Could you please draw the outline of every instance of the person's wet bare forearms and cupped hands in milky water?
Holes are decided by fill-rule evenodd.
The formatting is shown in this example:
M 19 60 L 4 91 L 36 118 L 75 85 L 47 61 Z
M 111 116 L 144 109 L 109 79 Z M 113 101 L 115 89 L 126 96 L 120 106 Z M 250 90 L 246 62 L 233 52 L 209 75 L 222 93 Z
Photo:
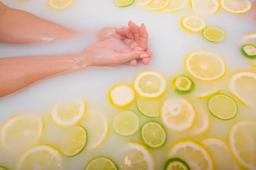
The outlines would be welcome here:
M 11 9 L 0 2 L 0 43 L 50 43 L 79 35 L 28 12 Z M 13 94 L 43 79 L 87 67 L 116 67 L 123 63 L 150 62 L 148 32 L 144 24 L 105 27 L 97 34 L 99 43 L 82 52 L 54 56 L 0 58 L 0 98 Z

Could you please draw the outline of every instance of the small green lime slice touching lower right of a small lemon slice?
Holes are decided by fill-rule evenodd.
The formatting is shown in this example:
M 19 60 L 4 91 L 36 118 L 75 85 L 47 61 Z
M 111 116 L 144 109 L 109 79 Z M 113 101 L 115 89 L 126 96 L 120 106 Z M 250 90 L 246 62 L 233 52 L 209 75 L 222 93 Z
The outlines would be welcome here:
M 224 40 L 226 33 L 218 27 L 207 27 L 203 31 L 203 36 L 209 41 L 218 43 Z

